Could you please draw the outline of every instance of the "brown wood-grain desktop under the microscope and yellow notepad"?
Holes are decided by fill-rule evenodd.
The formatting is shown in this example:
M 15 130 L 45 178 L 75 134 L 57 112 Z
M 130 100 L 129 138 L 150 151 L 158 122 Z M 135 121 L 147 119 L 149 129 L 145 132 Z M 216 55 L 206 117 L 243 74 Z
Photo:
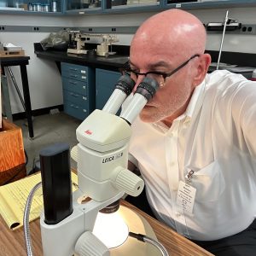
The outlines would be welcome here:
M 140 213 L 143 218 L 148 220 L 148 223 L 154 230 L 158 240 L 166 247 L 170 256 L 207 256 L 212 255 L 203 248 L 197 246 L 192 241 L 178 235 L 175 231 L 161 224 L 159 221 L 151 218 L 145 212 L 140 211 L 136 207 L 131 206 L 130 203 L 122 201 L 122 205 L 130 207 L 133 211 Z M 42 256 L 42 244 L 39 219 L 30 224 L 31 238 L 32 238 L 32 252 L 35 256 Z M 0 216 L 0 255 L 1 256 L 26 256 L 25 240 L 23 236 L 23 229 L 11 231 L 4 223 Z M 56 255 L 57 256 L 57 255 Z M 59 256 L 59 255 L 58 255 Z M 61 256 L 61 255 L 60 255 Z

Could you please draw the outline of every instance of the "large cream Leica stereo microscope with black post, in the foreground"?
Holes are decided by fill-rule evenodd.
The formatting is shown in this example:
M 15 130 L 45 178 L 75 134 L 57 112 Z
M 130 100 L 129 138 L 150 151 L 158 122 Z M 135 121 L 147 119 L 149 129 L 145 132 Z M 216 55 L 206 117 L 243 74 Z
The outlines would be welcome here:
M 46 178 L 44 166 L 49 164 L 44 164 L 44 157 L 47 163 L 50 150 L 40 155 L 44 195 L 40 225 L 44 256 L 110 255 L 108 247 L 93 234 L 96 217 L 102 209 L 107 209 L 105 212 L 118 209 L 119 199 L 125 193 L 137 196 L 143 190 L 143 180 L 127 169 L 131 123 L 159 88 L 154 79 L 143 79 L 127 108 L 120 116 L 115 115 L 134 85 L 130 76 L 121 76 L 104 108 L 90 113 L 79 125 L 76 131 L 79 144 L 71 151 L 78 164 L 79 189 L 73 195 L 70 188 L 67 193 L 60 192 L 65 189 L 62 185 L 58 188 L 65 173 L 55 178 L 50 173 L 50 178 Z M 70 173 L 68 183 L 71 183 Z M 54 203 L 52 198 L 55 198 Z M 56 207 L 58 201 L 61 201 L 60 207 Z

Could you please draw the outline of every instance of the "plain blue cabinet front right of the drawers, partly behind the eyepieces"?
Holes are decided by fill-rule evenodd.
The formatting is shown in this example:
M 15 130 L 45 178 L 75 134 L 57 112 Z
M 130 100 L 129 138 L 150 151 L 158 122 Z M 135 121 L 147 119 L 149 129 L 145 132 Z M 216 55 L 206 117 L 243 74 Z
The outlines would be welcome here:
M 121 74 L 106 69 L 96 68 L 96 108 L 102 109 Z

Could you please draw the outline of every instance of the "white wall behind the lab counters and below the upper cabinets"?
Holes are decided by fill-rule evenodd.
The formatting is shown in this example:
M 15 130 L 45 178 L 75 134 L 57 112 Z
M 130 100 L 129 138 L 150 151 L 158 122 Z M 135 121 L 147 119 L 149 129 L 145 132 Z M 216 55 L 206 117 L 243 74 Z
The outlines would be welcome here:
M 226 9 L 191 10 L 202 22 L 223 21 Z M 256 8 L 230 9 L 230 17 L 242 24 L 256 24 Z M 26 15 L 0 15 L 0 25 L 29 25 L 29 26 L 139 26 L 154 13 L 141 13 L 129 15 L 88 15 L 88 16 L 26 16 Z M 44 61 L 33 53 L 33 43 L 45 38 L 48 33 L 28 32 L 0 32 L 0 42 L 18 44 L 31 56 L 27 67 L 28 80 L 31 90 L 32 109 L 47 108 L 62 103 L 61 76 L 55 67 L 54 61 Z M 207 38 L 207 49 L 218 50 L 221 33 L 210 34 Z M 131 34 L 119 35 L 119 43 L 130 45 Z M 256 36 L 254 35 L 226 35 L 224 38 L 224 51 L 243 53 L 256 53 Z M 20 85 L 19 69 L 13 67 L 15 77 Z M 20 85 L 21 87 L 21 85 Z M 13 89 L 12 89 L 13 90 Z M 22 110 L 17 97 L 12 93 L 12 111 L 19 113 Z

